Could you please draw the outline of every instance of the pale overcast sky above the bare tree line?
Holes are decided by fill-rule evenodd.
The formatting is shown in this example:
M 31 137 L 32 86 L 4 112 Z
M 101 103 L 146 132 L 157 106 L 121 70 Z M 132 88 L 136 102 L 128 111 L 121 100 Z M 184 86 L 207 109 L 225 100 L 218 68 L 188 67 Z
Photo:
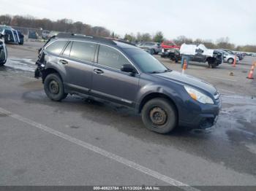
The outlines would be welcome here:
M 256 44 L 255 0 L 0 0 L 2 14 L 69 18 L 126 33 L 162 31 L 167 39 L 228 36 L 235 44 Z M 4 9 L 3 9 L 4 7 Z

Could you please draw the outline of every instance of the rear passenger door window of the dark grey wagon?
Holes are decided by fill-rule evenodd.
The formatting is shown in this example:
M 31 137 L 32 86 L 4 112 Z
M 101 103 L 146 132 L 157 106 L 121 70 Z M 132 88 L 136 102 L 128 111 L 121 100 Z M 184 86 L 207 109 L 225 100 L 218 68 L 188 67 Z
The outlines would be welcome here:
M 96 46 L 96 44 L 90 42 L 73 42 L 70 57 L 92 62 L 94 61 Z

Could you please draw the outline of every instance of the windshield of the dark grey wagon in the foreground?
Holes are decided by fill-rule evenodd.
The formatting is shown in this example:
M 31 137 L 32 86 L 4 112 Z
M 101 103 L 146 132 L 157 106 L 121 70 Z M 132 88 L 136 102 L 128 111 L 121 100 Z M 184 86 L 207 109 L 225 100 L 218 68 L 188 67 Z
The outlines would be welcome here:
M 146 73 L 161 73 L 169 71 L 162 63 L 157 61 L 154 56 L 140 49 L 125 49 L 128 55 L 137 63 L 140 69 Z

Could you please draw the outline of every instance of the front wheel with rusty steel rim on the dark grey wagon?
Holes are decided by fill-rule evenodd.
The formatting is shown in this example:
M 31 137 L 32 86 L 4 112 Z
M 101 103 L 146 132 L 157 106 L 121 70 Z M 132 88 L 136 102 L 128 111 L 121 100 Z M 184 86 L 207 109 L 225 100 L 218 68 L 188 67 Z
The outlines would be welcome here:
M 146 128 L 157 133 L 170 133 L 177 125 L 175 106 L 166 98 L 154 98 L 142 109 L 142 120 Z

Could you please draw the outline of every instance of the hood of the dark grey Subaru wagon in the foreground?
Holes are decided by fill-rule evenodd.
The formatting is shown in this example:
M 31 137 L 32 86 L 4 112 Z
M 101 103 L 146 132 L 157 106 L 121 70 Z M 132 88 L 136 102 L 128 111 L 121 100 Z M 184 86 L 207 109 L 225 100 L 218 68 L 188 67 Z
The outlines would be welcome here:
M 187 74 L 181 74 L 178 71 L 159 73 L 157 74 L 157 77 L 161 77 L 162 79 L 166 80 L 180 82 L 184 85 L 195 87 L 199 90 L 205 90 L 206 92 L 211 93 L 211 95 L 214 95 L 214 93 L 217 92 L 217 89 L 208 82 L 205 82 L 202 79 L 198 79 L 196 77 L 189 76 Z

